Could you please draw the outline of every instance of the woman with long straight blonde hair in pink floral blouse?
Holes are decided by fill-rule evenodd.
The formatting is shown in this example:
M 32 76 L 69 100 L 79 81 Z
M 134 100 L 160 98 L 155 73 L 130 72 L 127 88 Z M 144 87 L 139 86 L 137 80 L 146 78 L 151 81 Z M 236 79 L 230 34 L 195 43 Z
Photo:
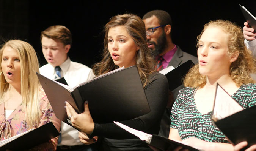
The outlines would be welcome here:
M 55 117 L 36 76 L 39 64 L 33 47 L 24 41 L 10 40 L 0 49 L 0 59 L 1 140 L 49 122 L 60 130 L 60 120 Z M 56 150 L 57 142 L 56 137 L 34 149 Z

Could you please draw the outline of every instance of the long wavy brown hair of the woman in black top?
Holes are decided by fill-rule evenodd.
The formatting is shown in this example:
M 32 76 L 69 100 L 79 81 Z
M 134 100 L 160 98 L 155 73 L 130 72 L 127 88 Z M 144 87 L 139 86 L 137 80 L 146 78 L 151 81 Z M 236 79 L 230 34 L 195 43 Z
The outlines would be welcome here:
M 134 14 L 116 15 L 110 18 L 110 21 L 105 25 L 104 49 L 102 52 L 103 59 L 101 62 L 94 64 L 93 72 L 96 76 L 99 76 L 119 68 L 119 66 L 115 65 L 113 62 L 108 51 L 108 31 L 110 28 L 116 26 L 124 26 L 135 44 L 140 47 L 137 52 L 136 66 L 140 74 L 140 79 L 143 82 L 143 86 L 146 86 L 146 83 L 149 82 L 149 74 L 155 72 L 154 59 L 146 42 L 144 22 L 140 17 Z

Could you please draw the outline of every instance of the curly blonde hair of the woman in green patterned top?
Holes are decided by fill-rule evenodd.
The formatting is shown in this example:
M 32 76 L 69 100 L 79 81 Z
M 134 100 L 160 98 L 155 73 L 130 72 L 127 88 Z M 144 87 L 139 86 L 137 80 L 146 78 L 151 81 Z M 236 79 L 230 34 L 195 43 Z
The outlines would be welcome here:
M 235 51 L 239 51 L 239 56 L 236 61 L 231 63 L 229 73 L 232 80 L 237 86 L 247 83 L 255 83 L 250 77 L 251 73 L 256 72 L 256 60 L 251 55 L 251 51 L 248 50 L 244 44 L 244 37 L 242 28 L 227 20 L 215 20 L 210 21 L 204 25 L 204 29 L 200 35 L 197 36 L 199 40 L 203 32 L 208 27 L 221 28 L 228 34 L 228 55 L 232 55 Z M 206 84 L 206 76 L 199 73 L 198 64 L 188 71 L 188 74 L 184 78 L 184 86 L 190 87 L 203 87 Z

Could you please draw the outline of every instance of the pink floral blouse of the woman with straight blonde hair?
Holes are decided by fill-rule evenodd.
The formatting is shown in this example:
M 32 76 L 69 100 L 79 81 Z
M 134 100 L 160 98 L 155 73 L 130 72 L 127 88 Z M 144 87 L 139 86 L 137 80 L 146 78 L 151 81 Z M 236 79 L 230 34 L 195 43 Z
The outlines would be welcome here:
M 41 120 L 37 126 L 28 126 L 28 123 L 25 119 L 25 112 L 22 111 L 23 105 L 20 104 L 8 117 L 5 119 L 4 108 L 5 105 L 2 103 L 0 105 L 0 138 L 1 140 L 8 139 L 17 134 L 28 131 L 32 128 L 38 128 L 46 123 L 52 122 L 53 125 L 60 131 L 60 120 L 55 116 L 52 106 L 50 105 L 46 95 L 42 92 L 42 99 L 40 100 L 41 107 Z M 49 142 L 43 143 L 36 146 L 31 150 L 40 150 L 40 151 L 55 151 L 58 143 L 58 137 L 51 139 Z

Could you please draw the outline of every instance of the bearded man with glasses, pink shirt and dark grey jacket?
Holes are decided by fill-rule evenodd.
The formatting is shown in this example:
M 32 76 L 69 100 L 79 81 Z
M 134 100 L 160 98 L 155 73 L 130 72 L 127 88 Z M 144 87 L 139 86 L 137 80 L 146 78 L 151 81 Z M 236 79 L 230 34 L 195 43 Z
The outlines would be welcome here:
M 168 12 L 162 10 L 150 11 L 142 19 L 146 26 L 147 44 L 157 61 L 158 71 L 168 66 L 175 68 L 187 60 L 192 60 L 195 64 L 198 63 L 197 57 L 182 51 L 179 46 L 173 43 L 171 39 L 172 21 Z M 183 85 L 169 92 L 169 102 L 161 121 L 160 136 L 169 136 L 170 109 L 182 88 L 184 88 Z

